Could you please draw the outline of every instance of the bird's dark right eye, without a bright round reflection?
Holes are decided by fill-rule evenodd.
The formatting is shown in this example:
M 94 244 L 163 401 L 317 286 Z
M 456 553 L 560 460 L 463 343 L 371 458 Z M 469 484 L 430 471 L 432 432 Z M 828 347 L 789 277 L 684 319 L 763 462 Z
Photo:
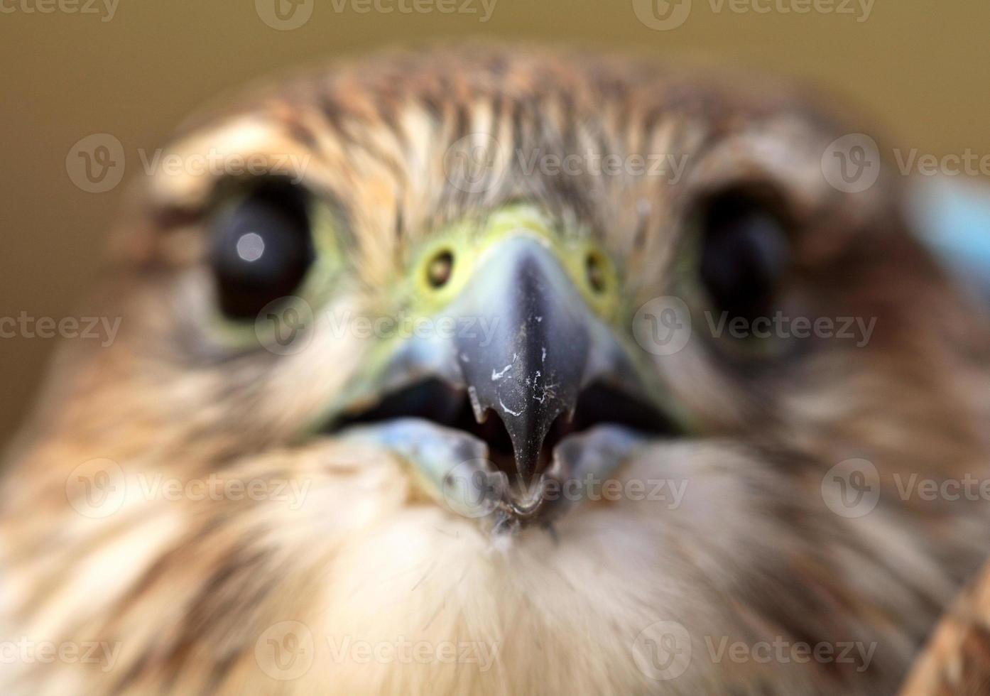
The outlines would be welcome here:
M 701 280 L 713 308 L 755 319 L 771 311 L 790 245 L 779 206 L 745 191 L 717 194 L 698 213 Z

